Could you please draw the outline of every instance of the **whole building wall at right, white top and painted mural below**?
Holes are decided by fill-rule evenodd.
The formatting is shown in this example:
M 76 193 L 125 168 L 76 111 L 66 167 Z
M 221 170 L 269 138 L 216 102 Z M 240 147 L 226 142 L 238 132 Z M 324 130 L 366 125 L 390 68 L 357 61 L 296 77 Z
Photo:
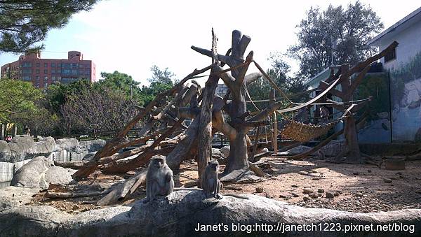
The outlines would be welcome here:
M 390 73 L 392 139 L 421 142 L 421 20 L 380 38 L 379 49 L 393 41 L 399 43 L 396 59 L 384 64 Z

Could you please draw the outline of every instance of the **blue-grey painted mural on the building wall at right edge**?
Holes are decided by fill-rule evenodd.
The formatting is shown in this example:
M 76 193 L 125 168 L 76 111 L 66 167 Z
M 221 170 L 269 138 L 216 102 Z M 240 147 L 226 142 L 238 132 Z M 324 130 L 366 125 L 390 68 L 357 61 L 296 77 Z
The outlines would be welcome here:
M 393 141 L 421 142 L 421 52 L 390 71 Z

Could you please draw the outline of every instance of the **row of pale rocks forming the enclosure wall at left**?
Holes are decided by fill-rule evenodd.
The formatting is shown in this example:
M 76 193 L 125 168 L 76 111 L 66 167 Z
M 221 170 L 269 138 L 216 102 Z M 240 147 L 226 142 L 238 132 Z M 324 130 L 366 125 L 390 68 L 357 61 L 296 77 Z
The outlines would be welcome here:
M 0 141 L 0 187 L 8 185 L 13 173 L 34 157 L 44 156 L 50 161 L 80 161 L 91 159 L 105 141 L 77 141 L 74 138 L 40 138 L 38 142 L 30 136 L 16 136 L 10 143 Z

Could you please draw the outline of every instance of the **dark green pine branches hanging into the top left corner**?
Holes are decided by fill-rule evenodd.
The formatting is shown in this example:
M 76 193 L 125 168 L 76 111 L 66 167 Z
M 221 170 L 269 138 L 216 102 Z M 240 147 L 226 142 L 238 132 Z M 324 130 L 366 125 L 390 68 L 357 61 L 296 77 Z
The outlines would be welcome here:
M 98 0 L 0 0 L 0 51 L 25 52 Z M 43 45 L 35 47 L 40 50 Z

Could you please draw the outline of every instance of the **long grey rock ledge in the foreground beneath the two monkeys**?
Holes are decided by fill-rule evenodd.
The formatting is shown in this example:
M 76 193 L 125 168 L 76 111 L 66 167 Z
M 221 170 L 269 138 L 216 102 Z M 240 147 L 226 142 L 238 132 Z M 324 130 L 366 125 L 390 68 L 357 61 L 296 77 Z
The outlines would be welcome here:
M 405 231 L 282 231 L 281 227 L 313 225 L 345 228 L 352 224 L 403 224 L 421 233 L 421 210 L 350 213 L 303 208 L 262 196 L 247 200 L 224 196 L 205 199 L 199 191 L 173 192 L 166 199 L 133 207 L 120 206 L 68 215 L 50 206 L 20 206 L 0 213 L 1 236 L 408 236 Z M 195 231 L 199 225 L 221 224 L 226 231 Z M 247 227 L 239 231 L 236 227 Z M 260 231 L 255 229 L 259 225 Z M 263 226 L 265 225 L 265 227 Z M 249 228 L 251 231 L 246 232 Z M 269 229 L 267 229 L 269 228 Z M 287 228 L 287 227 L 286 227 Z M 272 231 L 271 231 L 272 230 Z

